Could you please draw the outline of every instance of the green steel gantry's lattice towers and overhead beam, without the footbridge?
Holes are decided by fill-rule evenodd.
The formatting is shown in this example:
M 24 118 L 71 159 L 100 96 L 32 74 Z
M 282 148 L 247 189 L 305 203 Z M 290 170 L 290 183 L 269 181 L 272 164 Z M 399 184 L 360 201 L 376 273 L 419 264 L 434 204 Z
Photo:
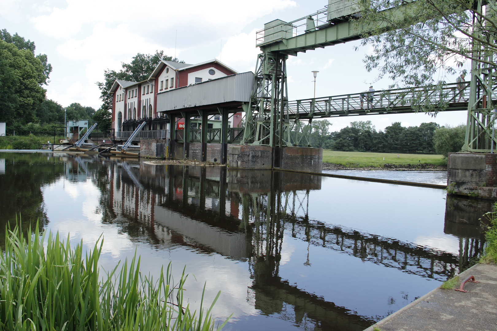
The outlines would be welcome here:
M 284 147 L 298 145 L 291 133 L 291 119 L 297 125 L 299 119 L 299 102 L 297 112 L 289 108 L 286 60 L 289 55 L 296 56 L 298 52 L 306 52 L 316 48 L 341 44 L 362 38 L 363 32 L 370 26 L 359 26 L 355 21 L 357 11 L 355 0 L 328 0 L 328 6 L 311 15 L 284 22 L 276 19 L 264 24 L 264 29 L 257 32 L 256 47 L 262 51 L 259 54 L 255 69 L 255 80 L 251 91 L 251 100 L 246 111 L 246 126 L 242 144 L 266 145 Z M 416 1 L 406 1 L 403 5 L 387 9 L 392 15 L 400 16 L 406 10 L 412 10 Z M 475 0 L 478 12 L 482 6 L 487 10 L 496 10 L 495 0 Z M 474 24 L 480 20 L 475 19 Z M 384 27 L 388 29 L 388 26 Z M 493 53 L 486 50 L 485 45 L 473 40 L 474 54 L 479 58 L 493 61 Z M 497 99 L 496 87 L 493 84 L 497 68 L 484 62 L 472 61 L 469 101 L 467 103 L 468 120 L 465 144 L 463 150 L 488 152 L 494 148 L 493 100 Z M 454 90 L 454 88 L 452 88 Z M 433 92 L 428 93 L 433 95 Z M 436 91 L 440 96 L 443 91 Z M 448 93 L 447 93 L 448 94 Z M 422 102 L 435 102 L 425 98 Z M 321 98 L 323 99 L 323 98 Z M 442 99 L 442 97 L 440 97 Z M 309 108 L 314 109 L 319 101 L 310 99 Z M 329 103 L 324 102 L 323 107 Z M 412 107 L 415 107 L 412 104 Z M 443 110 L 443 109 L 440 109 Z M 326 113 L 326 112 L 325 112 Z M 310 115 L 309 115 L 310 114 Z M 330 112 L 313 116 L 307 113 L 309 125 L 312 118 L 327 117 Z

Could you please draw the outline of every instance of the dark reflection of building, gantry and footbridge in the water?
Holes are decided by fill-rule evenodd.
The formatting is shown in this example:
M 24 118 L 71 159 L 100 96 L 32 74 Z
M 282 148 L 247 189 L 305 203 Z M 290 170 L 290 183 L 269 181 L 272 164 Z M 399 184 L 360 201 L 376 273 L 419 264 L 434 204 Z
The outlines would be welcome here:
M 358 316 L 282 279 L 285 231 L 308 245 L 438 280 L 468 265 L 482 245 L 477 232 L 456 232 L 463 243 L 457 256 L 310 219 L 309 193 L 321 189 L 321 176 L 119 162 L 110 178 L 114 221 L 126 223 L 131 235 L 248 261 L 248 301 L 302 328 L 364 330 L 374 317 Z M 452 233 L 447 222 L 446 233 Z

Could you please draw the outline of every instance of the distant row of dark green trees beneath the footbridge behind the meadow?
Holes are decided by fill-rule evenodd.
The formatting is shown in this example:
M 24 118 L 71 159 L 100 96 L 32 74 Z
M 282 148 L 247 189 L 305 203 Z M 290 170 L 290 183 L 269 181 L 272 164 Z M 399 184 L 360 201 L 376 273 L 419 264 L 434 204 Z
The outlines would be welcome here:
M 458 152 L 464 144 L 466 126 L 440 126 L 421 123 L 418 127 L 403 127 L 394 122 L 384 131 L 377 131 L 371 121 L 354 121 L 340 131 L 330 132 L 328 120 L 311 124 L 311 145 L 339 151 L 378 153 L 437 153 L 447 156 Z M 308 134 L 309 127 L 302 127 L 300 134 Z M 292 133 L 295 136 L 295 133 Z

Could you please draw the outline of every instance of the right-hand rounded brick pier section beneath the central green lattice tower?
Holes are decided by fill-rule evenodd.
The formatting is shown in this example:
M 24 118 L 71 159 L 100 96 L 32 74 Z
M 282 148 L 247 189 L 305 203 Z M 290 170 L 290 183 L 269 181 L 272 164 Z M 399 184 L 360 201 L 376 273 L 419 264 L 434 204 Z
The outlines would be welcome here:
M 287 170 L 321 172 L 323 148 L 283 147 L 281 148 L 281 168 Z

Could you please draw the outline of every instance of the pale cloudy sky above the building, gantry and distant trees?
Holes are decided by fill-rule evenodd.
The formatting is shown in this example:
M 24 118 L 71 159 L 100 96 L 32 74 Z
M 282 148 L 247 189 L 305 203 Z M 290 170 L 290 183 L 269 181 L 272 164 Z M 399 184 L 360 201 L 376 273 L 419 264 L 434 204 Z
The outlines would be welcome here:
M 97 81 L 106 68 L 118 70 L 137 53 L 166 54 L 196 64 L 219 59 L 240 72 L 254 71 L 259 50 L 255 31 L 279 18 L 291 21 L 312 14 L 326 0 L 0 0 L 0 28 L 34 41 L 36 54 L 48 55 L 53 66 L 47 97 L 63 106 L 79 102 L 98 109 Z M 289 99 L 313 96 L 312 70 L 319 70 L 316 96 L 358 93 L 373 83 L 376 90 L 388 88 L 387 79 L 376 81 L 362 59 L 368 47 L 350 42 L 299 53 L 288 64 Z M 469 69 L 469 68 L 467 68 Z M 455 81 L 456 77 L 448 77 Z M 418 126 L 466 123 L 466 112 L 375 115 L 331 118 L 331 131 L 350 121 L 370 120 L 383 130 L 392 122 Z

